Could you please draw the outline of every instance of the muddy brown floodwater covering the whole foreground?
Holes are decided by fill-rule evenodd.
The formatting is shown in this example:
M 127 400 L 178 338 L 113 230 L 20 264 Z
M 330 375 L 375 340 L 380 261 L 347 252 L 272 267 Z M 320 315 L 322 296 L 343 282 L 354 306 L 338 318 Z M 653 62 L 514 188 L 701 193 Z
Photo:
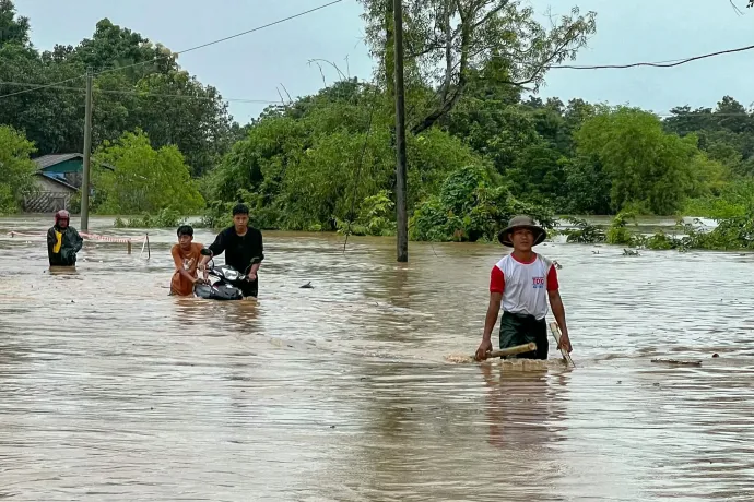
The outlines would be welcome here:
M 446 361 L 498 246 L 401 265 L 392 239 L 266 232 L 259 300 L 210 302 L 168 297 L 174 230 L 50 274 L 7 236 L 48 226 L 0 219 L 0 499 L 754 499 L 753 255 L 545 243 L 576 368 L 551 340 L 515 371 Z

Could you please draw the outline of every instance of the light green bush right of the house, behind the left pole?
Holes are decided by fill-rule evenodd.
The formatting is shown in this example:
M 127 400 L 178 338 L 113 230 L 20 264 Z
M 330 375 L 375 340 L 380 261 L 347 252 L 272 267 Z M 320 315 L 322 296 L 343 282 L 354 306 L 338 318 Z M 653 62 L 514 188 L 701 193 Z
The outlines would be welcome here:
M 204 207 L 178 148 L 154 150 L 142 131 L 105 142 L 94 157 L 93 205 L 101 214 L 151 214 L 168 207 L 192 214 Z

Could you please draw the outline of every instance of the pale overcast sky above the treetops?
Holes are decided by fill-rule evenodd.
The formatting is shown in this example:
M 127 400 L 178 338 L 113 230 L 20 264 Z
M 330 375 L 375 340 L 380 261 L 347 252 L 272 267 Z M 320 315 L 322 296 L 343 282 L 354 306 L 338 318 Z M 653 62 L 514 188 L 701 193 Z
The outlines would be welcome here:
M 531 0 L 537 12 L 578 5 L 593 10 L 597 34 L 576 64 L 665 61 L 754 45 L 754 9 L 745 0 Z M 174 51 L 244 32 L 326 3 L 326 0 L 15 0 L 31 17 L 32 40 L 39 49 L 76 45 L 91 37 L 103 17 L 129 27 Z M 223 44 L 186 53 L 181 67 L 228 99 L 279 99 L 280 84 L 292 96 L 322 86 L 310 59 L 335 61 L 352 75 L 369 77 L 373 62 L 363 44 L 361 4 L 345 0 Z M 672 69 L 551 70 L 542 97 L 564 101 L 631 104 L 665 113 L 674 106 L 709 106 L 731 95 L 754 101 L 754 50 L 695 61 Z M 327 74 L 329 82 L 337 75 Z M 264 105 L 232 101 L 236 120 L 247 122 Z

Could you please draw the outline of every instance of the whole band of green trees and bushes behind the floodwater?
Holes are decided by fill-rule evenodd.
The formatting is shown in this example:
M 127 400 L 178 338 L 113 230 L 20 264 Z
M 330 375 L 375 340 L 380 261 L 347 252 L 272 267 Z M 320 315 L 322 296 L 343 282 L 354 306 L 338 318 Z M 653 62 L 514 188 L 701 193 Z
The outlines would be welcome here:
M 342 75 L 239 124 L 161 44 L 105 19 L 75 46 L 39 51 L 32 22 L 0 0 L 4 207 L 17 210 L 33 188 L 32 155 L 82 150 L 91 69 L 95 156 L 117 167 L 93 176 L 95 211 L 169 208 L 170 220 L 199 212 L 224 225 L 245 201 L 263 228 L 394 231 L 392 2 L 362 3 L 373 81 Z M 576 8 L 545 27 L 522 0 L 405 0 L 414 239 L 493 239 L 518 211 L 542 222 L 752 211 L 741 187 L 754 186 L 754 113 L 733 97 L 667 118 L 538 97 L 550 69 L 596 29 L 594 13 Z

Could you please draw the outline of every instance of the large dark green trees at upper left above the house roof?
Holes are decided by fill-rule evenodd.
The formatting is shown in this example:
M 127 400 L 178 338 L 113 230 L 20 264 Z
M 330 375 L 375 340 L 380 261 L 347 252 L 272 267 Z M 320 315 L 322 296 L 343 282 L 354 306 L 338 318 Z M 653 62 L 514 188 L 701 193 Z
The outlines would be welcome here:
M 234 125 L 227 104 L 214 87 L 181 71 L 166 47 L 105 19 L 75 47 L 56 45 L 40 52 L 30 43 L 28 19 L 16 16 L 11 0 L 0 0 L 0 94 L 61 81 L 81 88 L 39 88 L 3 98 L 0 123 L 23 131 L 39 155 L 82 152 L 86 68 L 107 71 L 94 79 L 95 147 L 140 128 L 155 148 L 178 145 L 195 176 L 214 167 L 229 148 Z

